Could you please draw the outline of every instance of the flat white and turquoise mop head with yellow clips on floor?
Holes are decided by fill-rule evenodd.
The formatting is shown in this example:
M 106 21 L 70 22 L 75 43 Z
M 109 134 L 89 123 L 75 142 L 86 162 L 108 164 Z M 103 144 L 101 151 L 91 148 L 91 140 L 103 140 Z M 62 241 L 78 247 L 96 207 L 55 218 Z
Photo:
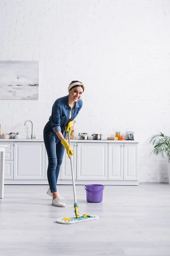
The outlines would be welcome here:
M 80 218 L 60 218 L 57 219 L 57 223 L 61 223 L 61 224 L 74 224 L 74 223 L 78 223 L 78 222 L 83 222 L 83 221 L 93 221 L 98 219 L 99 216 L 97 215 L 85 215 L 83 214 L 82 216 L 80 216 Z

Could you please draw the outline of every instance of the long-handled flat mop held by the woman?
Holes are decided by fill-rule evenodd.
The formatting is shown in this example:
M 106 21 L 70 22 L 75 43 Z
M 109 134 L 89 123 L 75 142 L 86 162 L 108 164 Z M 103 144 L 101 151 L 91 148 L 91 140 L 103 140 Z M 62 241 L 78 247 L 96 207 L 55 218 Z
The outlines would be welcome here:
M 70 143 L 70 131 L 68 131 L 68 143 L 71 146 Z M 74 192 L 74 212 L 76 217 L 71 217 L 71 218 L 59 218 L 57 219 L 57 223 L 61 224 L 74 224 L 78 222 L 83 222 L 83 221 L 93 221 L 99 218 L 97 215 L 86 215 L 83 214 L 82 216 L 79 215 L 79 209 L 78 209 L 78 204 L 77 204 L 77 197 L 76 197 L 76 187 L 75 187 L 75 181 L 74 181 L 74 169 L 73 169 L 73 161 L 72 161 L 72 156 L 70 155 L 70 162 L 71 162 L 71 174 L 72 174 L 72 181 L 73 181 L 73 192 Z

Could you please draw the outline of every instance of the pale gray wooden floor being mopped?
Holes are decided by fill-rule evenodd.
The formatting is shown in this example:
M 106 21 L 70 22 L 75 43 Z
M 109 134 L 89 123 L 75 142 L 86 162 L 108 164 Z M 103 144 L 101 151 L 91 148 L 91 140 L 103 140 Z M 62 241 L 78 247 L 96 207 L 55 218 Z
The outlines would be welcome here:
M 55 223 L 74 216 L 72 186 L 58 186 L 65 208 L 51 205 L 48 186 L 6 185 L 0 200 L 0 255 L 170 256 L 170 185 L 105 186 L 102 203 L 86 202 L 76 186 L 80 214 L 99 219 Z

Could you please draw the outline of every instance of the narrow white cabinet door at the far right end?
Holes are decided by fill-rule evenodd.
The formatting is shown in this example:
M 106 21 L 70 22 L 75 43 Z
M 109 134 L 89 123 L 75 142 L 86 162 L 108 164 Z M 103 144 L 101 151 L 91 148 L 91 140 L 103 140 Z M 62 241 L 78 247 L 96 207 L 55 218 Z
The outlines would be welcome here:
M 138 180 L 138 145 L 137 143 L 124 144 L 124 180 Z

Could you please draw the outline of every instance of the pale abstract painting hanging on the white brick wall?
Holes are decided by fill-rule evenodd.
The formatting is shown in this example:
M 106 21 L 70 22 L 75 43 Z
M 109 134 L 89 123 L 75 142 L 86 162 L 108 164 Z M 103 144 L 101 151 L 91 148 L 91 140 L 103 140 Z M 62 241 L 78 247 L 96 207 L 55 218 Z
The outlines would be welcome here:
M 38 100 L 38 97 L 38 61 L 0 61 L 0 99 Z

